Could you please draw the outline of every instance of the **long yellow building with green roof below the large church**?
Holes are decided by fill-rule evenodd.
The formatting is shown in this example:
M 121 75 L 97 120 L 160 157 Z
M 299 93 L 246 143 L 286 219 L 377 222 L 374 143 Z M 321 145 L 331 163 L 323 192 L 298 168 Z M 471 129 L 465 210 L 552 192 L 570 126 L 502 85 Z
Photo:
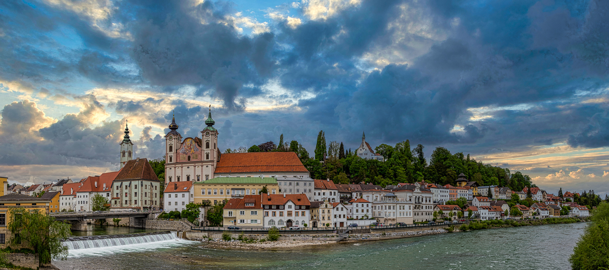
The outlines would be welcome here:
M 278 194 L 277 180 L 271 177 L 217 177 L 206 181 L 194 182 L 194 203 L 208 199 L 212 204 L 224 199 L 244 198 L 258 195 L 266 186 L 270 194 Z

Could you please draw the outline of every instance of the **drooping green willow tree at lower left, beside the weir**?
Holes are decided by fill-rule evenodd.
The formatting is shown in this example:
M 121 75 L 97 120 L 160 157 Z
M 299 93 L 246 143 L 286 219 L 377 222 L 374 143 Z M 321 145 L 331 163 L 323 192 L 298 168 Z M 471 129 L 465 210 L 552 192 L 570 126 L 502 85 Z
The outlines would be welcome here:
M 40 265 L 51 263 L 51 259 L 68 258 L 68 246 L 64 246 L 61 240 L 71 236 L 70 224 L 55 221 L 38 209 L 10 208 L 9 213 L 10 244 L 27 243 L 39 254 Z

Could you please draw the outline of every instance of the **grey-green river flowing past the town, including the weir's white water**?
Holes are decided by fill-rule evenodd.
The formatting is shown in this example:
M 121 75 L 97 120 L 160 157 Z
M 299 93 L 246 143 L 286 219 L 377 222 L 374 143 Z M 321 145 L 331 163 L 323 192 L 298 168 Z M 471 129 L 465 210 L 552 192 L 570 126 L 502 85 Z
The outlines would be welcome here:
M 476 230 L 298 250 L 228 251 L 169 240 L 70 251 L 60 269 L 570 269 L 568 258 L 587 223 Z M 354 244 L 361 244 L 355 246 Z M 187 256 L 188 258 L 182 258 Z

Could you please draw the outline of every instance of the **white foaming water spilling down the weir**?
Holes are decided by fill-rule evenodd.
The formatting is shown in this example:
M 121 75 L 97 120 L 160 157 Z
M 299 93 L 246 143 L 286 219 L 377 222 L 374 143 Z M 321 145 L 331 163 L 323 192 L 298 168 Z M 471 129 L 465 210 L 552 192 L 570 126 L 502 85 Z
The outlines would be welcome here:
M 68 257 L 101 256 L 124 252 L 149 251 L 152 249 L 178 247 L 193 241 L 183 240 L 171 234 L 140 235 L 136 237 L 104 238 L 94 240 L 64 241 L 68 246 Z

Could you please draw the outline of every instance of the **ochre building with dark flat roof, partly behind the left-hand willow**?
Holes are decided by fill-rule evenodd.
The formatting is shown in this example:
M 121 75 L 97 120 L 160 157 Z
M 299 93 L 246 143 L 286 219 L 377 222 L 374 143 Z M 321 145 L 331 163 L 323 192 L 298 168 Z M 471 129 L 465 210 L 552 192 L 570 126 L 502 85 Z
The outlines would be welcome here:
M 50 199 L 37 198 L 32 196 L 23 195 L 21 193 L 9 193 L 4 196 L 0 196 L 0 247 L 5 248 L 9 246 L 9 239 L 12 237 L 12 232 L 8 229 L 10 222 L 10 209 L 23 207 L 27 210 L 41 210 L 45 213 L 49 212 Z M 24 245 L 18 245 L 11 247 L 27 247 Z

